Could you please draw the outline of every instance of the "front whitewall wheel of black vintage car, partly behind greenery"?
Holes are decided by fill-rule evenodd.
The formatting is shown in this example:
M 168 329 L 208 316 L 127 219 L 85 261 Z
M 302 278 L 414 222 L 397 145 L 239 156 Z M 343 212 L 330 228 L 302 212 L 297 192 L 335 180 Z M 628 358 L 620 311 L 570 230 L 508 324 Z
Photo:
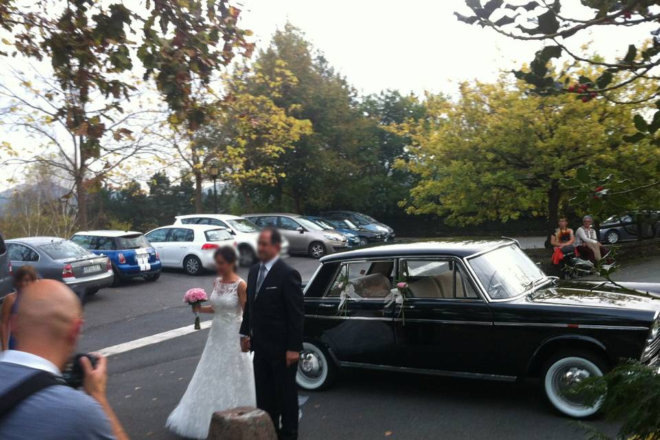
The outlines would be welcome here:
M 543 390 L 552 406 L 569 417 L 582 419 L 595 415 L 602 406 L 601 397 L 595 405 L 585 404 L 584 396 L 571 394 L 571 388 L 587 377 L 602 376 L 606 362 L 588 351 L 561 351 L 553 355 L 545 364 Z

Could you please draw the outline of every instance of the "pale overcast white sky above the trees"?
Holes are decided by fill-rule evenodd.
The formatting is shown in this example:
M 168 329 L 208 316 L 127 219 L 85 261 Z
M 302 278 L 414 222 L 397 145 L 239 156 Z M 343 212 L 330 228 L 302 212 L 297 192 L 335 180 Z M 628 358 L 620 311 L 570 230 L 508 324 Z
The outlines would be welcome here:
M 528 0 L 507 1 L 520 4 Z M 234 2 L 243 10 L 242 27 L 254 32 L 258 47 L 266 47 L 272 34 L 289 21 L 362 94 L 398 89 L 418 96 L 424 91 L 452 96 L 461 81 L 493 81 L 500 71 L 518 69 L 531 61 L 534 52 L 542 47 L 542 43 L 509 39 L 493 30 L 458 21 L 454 12 L 470 14 L 465 0 Z M 143 0 L 124 3 L 134 10 L 143 7 Z M 588 11 L 579 0 L 562 0 L 564 15 L 588 19 Z M 566 43 L 579 52 L 582 44 L 591 42 L 590 51 L 612 59 L 623 56 L 628 43 L 648 39 L 650 30 L 603 26 L 578 33 Z M 4 80 L 8 81 L 6 77 Z M 8 131 L 3 133 L 3 140 L 14 145 L 25 142 L 21 133 Z M 18 168 L 4 168 L 0 173 L 0 191 L 11 186 L 3 175 L 20 173 Z

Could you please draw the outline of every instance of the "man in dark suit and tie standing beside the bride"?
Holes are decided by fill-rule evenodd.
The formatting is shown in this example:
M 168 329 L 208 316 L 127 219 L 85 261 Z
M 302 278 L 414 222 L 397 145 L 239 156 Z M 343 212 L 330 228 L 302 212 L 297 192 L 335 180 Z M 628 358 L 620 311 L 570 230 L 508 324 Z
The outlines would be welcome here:
M 281 244 L 276 229 L 265 228 L 259 234 L 261 263 L 248 275 L 241 349 L 254 351 L 256 406 L 273 419 L 278 439 L 289 440 L 298 438 L 296 370 L 305 310 L 300 274 L 279 259 Z

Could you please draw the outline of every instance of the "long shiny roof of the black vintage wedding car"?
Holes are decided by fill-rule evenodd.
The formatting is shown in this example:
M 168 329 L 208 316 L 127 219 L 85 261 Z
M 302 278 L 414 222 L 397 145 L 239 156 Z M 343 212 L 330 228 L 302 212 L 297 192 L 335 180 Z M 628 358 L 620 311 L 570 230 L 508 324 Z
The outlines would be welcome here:
M 415 256 L 415 255 L 452 255 L 464 258 L 479 252 L 485 252 L 502 245 L 515 245 L 516 241 L 503 240 L 465 240 L 442 239 L 430 241 L 410 241 L 399 243 L 380 243 L 364 246 L 355 250 L 340 251 L 324 256 L 321 262 L 342 261 L 347 259 L 366 259 L 374 257 Z

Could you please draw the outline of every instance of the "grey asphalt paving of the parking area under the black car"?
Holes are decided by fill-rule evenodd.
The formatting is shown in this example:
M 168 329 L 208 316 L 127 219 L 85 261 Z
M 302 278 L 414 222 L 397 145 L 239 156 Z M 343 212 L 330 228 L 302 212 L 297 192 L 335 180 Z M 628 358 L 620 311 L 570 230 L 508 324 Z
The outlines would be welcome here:
M 656 259 L 657 260 L 657 259 Z M 291 257 L 303 280 L 318 263 Z M 241 271 L 245 276 L 245 270 Z M 630 273 L 632 275 L 628 276 Z M 660 281 L 660 263 L 626 267 L 619 278 Z M 104 289 L 85 307 L 80 351 L 94 351 L 192 323 L 186 289 L 210 290 L 212 274 L 164 272 L 158 281 Z M 177 439 L 164 427 L 192 377 L 207 330 L 109 358 L 109 398 L 132 439 Z M 238 341 L 237 341 L 238 343 Z M 338 384 L 301 407 L 301 439 L 584 439 L 545 403 L 536 382 L 504 384 L 374 371 L 342 371 Z M 613 434 L 613 427 L 592 421 Z

